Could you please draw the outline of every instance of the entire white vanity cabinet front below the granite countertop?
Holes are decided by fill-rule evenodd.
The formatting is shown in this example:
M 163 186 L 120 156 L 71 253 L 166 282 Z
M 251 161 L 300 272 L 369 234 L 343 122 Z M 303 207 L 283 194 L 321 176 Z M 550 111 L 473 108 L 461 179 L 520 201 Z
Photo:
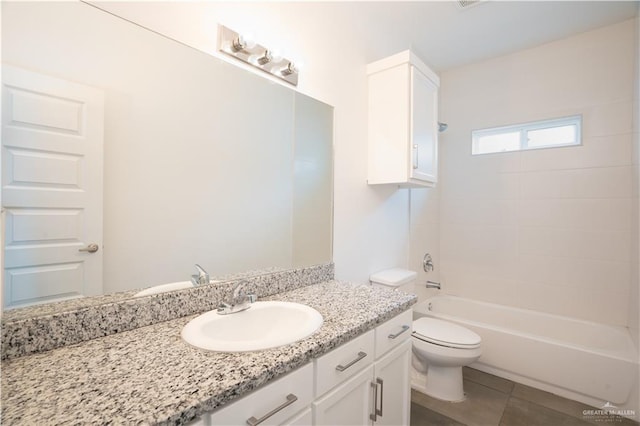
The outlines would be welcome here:
M 408 425 L 412 319 L 403 312 L 189 425 Z

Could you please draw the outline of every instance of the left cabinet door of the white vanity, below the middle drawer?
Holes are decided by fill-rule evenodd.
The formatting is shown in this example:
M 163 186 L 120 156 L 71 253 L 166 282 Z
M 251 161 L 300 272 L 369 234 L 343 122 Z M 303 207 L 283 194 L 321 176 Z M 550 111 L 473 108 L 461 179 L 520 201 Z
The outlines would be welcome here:
M 314 425 L 370 425 L 373 365 L 313 403 Z

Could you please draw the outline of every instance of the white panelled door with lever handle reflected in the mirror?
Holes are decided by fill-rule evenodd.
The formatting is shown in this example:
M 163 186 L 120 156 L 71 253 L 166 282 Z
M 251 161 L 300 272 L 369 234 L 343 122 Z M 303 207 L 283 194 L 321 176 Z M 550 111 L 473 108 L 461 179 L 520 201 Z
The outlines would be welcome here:
M 103 122 L 100 90 L 2 67 L 6 308 L 101 294 Z

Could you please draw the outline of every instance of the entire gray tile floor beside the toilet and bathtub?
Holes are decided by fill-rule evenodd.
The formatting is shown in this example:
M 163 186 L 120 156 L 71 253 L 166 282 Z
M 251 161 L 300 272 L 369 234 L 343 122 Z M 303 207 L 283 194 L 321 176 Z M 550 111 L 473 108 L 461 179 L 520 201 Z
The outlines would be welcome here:
M 589 407 L 465 367 L 463 402 L 444 402 L 411 391 L 411 426 L 638 426 L 622 417 L 583 415 Z

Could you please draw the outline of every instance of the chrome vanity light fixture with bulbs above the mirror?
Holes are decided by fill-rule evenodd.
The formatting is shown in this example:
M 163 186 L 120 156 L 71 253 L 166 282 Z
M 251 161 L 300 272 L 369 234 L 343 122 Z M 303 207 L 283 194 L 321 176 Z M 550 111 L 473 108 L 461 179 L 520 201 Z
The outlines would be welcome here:
M 218 25 L 218 49 L 289 84 L 298 85 L 299 70 L 293 61 L 224 25 Z

